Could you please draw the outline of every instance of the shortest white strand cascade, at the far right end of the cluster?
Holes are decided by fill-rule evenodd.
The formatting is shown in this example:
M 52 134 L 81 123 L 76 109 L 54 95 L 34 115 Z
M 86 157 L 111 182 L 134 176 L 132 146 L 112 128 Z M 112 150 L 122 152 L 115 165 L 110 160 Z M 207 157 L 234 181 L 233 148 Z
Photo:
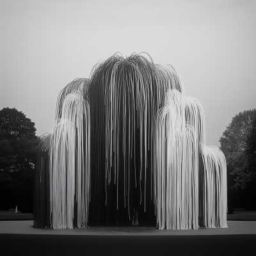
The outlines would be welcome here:
M 227 170 L 220 148 L 201 145 L 202 225 L 227 228 Z

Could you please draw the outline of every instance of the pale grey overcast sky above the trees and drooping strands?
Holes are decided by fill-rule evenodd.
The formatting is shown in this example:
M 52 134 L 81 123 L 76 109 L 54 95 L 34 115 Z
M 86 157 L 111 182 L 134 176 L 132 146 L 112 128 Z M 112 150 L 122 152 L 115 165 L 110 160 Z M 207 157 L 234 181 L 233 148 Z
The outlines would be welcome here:
M 256 1 L 0 0 L 0 109 L 51 131 L 58 93 L 115 52 L 172 65 L 202 102 L 207 145 L 256 107 Z

